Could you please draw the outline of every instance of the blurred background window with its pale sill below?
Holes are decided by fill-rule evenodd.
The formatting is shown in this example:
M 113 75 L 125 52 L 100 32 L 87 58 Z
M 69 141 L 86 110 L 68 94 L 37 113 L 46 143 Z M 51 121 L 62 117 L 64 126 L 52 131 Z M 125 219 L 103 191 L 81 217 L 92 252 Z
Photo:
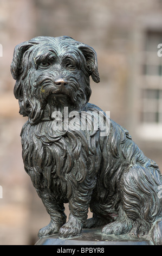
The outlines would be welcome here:
M 162 31 L 148 31 L 140 55 L 140 123 L 137 134 L 146 141 L 162 141 Z M 138 104 L 138 102 L 137 102 Z

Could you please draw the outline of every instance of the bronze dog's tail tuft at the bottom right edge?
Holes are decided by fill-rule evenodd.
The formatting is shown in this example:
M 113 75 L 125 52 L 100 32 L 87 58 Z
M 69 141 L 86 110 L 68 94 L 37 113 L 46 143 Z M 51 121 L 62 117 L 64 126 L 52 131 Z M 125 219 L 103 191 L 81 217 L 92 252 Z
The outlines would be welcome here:
M 162 219 L 155 222 L 150 233 L 154 245 L 162 245 Z

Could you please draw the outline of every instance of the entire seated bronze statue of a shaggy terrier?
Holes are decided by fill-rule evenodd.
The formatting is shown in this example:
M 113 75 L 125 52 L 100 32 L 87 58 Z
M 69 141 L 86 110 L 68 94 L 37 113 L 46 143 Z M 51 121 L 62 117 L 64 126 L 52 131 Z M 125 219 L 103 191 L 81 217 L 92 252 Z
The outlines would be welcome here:
M 128 131 L 113 120 L 108 136 L 93 127 L 53 128 L 54 111 L 63 115 L 64 107 L 101 110 L 88 103 L 89 77 L 100 81 L 94 49 L 68 36 L 38 36 L 15 47 L 11 73 L 20 114 L 29 117 L 21 132 L 24 167 L 51 217 L 38 236 L 67 238 L 102 225 L 105 234 L 133 230 L 139 236 L 151 230 L 154 243 L 161 241 L 161 174 Z M 69 203 L 67 223 L 64 203 Z

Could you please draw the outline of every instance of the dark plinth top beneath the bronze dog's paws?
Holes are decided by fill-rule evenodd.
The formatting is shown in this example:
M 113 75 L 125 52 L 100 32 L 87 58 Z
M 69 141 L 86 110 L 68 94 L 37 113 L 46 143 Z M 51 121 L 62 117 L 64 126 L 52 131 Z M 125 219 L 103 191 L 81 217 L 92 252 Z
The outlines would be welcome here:
M 39 239 L 35 245 L 56 245 L 56 246 L 105 246 L 105 245 L 153 245 L 152 241 L 133 234 L 105 235 L 101 228 L 83 229 L 79 236 L 62 239 L 59 234 L 54 234 Z

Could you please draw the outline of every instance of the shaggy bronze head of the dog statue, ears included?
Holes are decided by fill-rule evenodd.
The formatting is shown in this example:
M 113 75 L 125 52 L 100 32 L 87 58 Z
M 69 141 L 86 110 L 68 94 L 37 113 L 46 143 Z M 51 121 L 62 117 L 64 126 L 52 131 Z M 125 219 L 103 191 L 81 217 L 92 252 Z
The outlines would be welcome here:
M 31 125 L 65 106 L 79 111 L 91 95 L 89 77 L 100 81 L 94 49 L 68 36 L 37 36 L 17 45 L 11 74 L 20 114 Z

